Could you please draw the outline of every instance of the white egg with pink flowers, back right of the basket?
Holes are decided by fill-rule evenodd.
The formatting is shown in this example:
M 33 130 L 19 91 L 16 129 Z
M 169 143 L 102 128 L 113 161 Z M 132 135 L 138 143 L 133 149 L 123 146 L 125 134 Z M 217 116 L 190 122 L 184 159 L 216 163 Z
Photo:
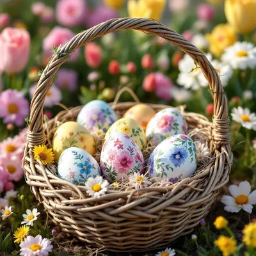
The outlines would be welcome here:
M 188 124 L 175 108 L 165 108 L 156 113 L 147 125 L 148 141 L 157 146 L 161 141 L 176 134 L 187 134 Z

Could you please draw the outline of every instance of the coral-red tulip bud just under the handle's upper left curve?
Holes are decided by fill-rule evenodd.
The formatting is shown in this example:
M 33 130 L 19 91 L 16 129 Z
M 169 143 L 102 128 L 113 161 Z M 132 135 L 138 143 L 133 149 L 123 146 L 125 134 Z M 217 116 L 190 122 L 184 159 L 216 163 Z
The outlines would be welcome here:
M 102 63 L 102 51 L 99 45 L 91 42 L 84 47 L 86 63 L 91 68 L 97 68 Z

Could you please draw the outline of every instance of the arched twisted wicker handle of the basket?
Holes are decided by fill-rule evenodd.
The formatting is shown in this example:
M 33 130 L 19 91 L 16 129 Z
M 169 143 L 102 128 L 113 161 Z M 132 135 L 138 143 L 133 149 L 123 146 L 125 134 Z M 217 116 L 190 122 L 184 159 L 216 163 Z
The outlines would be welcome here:
M 136 18 L 122 18 L 111 19 L 86 31 L 83 31 L 72 39 L 68 40 L 65 45 L 58 49 L 49 60 L 40 80 L 38 81 L 36 91 L 31 100 L 31 113 L 29 119 L 28 129 L 28 145 L 33 148 L 35 145 L 45 143 L 45 134 L 43 130 L 43 109 L 45 96 L 49 92 L 54 79 L 54 75 L 61 67 L 61 65 L 68 60 L 77 48 L 85 45 L 99 36 L 106 35 L 113 31 L 120 31 L 123 29 L 136 29 L 151 33 L 165 38 L 172 44 L 177 45 L 193 58 L 198 66 L 201 68 L 204 76 L 210 84 L 211 94 L 214 102 L 214 117 L 213 122 L 213 139 L 218 145 L 226 145 L 230 143 L 229 133 L 229 119 L 228 119 L 228 104 L 227 97 L 221 86 L 220 77 L 218 72 L 212 67 L 211 63 L 205 57 L 205 54 L 199 51 L 195 45 L 191 44 L 183 36 L 177 34 L 172 29 L 164 26 L 163 24 L 150 19 L 136 19 Z

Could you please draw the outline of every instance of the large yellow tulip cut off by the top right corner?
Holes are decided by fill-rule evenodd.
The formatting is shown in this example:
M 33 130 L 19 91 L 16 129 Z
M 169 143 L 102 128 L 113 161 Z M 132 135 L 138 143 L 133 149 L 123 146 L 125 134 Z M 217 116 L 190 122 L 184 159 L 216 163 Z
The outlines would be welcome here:
M 226 0 L 225 15 L 236 33 L 247 34 L 256 28 L 256 0 Z

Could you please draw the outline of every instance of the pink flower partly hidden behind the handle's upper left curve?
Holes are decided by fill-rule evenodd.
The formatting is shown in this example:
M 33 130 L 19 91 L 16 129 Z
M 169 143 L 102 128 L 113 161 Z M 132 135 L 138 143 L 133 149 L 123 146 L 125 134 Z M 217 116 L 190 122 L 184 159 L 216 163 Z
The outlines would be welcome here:
M 60 26 L 54 27 L 49 35 L 44 38 L 43 49 L 47 57 L 51 56 L 53 52 L 51 51 L 52 45 L 59 47 L 64 45 L 65 42 L 70 40 L 75 34 L 67 28 L 61 28 Z M 71 61 L 76 61 L 79 55 L 79 49 L 77 49 L 71 56 Z

